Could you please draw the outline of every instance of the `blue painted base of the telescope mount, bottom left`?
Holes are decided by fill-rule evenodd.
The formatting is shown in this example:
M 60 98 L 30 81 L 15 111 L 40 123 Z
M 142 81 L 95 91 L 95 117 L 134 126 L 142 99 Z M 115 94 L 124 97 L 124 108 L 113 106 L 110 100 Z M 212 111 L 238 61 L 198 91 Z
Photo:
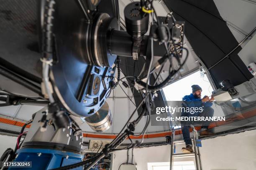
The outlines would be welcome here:
M 37 149 L 37 148 L 21 148 L 17 150 L 17 158 L 15 161 L 31 161 L 32 168 L 18 168 L 19 170 L 50 170 L 61 166 L 71 165 L 81 162 L 84 155 L 65 152 L 61 150 Z M 17 168 L 14 168 L 15 170 Z M 8 170 L 14 170 L 9 168 Z M 82 170 L 78 167 L 73 170 Z

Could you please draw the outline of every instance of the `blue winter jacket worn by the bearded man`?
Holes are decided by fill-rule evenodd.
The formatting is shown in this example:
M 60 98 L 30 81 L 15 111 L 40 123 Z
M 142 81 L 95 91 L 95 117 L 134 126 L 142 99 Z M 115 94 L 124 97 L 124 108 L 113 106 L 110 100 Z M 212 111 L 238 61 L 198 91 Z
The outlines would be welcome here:
M 185 95 L 182 98 L 183 101 L 183 107 L 211 107 L 212 102 L 202 102 L 202 99 L 196 98 L 192 93 L 190 95 Z M 182 113 L 184 115 L 184 113 Z M 187 114 L 186 114 L 187 115 Z M 189 114 L 191 115 L 191 114 Z M 197 113 L 193 114 L 193 116 L 196 116 Z

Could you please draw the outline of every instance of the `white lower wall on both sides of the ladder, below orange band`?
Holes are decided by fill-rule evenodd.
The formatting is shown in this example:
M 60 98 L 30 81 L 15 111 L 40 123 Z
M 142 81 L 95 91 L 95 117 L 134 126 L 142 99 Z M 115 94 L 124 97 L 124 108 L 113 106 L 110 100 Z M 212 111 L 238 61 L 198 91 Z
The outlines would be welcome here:
M 182 147 L 184 144 L 177 145 L 177 153 Z M 256 130 L 202 140 L 200 152 L 203 170 L 255 170 Z M 126 150 L 114 153 L 113 170 L 118 170 L 120 164 L 126 162 L 126 155 Z M 131 151 L 129 155 L 131 163 Z M 133 155 L 137 170 L 147 170 L 147 163 L 169 162 L 170 145 L 134 149 Z M 183 158 L 183 161 L 188 160 L 192 158 Z

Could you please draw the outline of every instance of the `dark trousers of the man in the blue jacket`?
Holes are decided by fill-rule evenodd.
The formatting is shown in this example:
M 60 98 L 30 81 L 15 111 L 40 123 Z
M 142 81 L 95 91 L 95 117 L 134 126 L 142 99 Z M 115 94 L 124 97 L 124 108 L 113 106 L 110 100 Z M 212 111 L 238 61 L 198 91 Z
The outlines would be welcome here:
M 206 107 L 199 115 L 199 117 L 212 117 L 213 116 L 213 112 L 214 110 L 212 109 L 212 107 Z M 209 122 L 191 122 L 190 124 L 193 124 L 195 126 L 195 124 L 200 124 L 202 125 L 201 128 L 205 128 L 208 129 L 208 125 Z M 190 139 L 190 135 L 189 135 L 189 123 L 188 122 L 181 122 L 182 125 L 182 135 L 183 135 L 183 139 L 184 142 L 187 145 L 192 145 L 192 141 Z

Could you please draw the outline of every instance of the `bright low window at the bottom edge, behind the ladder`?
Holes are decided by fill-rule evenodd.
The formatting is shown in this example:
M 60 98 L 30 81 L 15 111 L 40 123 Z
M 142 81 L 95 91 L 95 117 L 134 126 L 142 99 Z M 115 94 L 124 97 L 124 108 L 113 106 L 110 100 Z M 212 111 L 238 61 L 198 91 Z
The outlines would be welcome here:
M 173 170 L 195 170 L 194 161 L 174 162 Z M 148 170 L 170 170 L 170 163 L 148 163 Z

